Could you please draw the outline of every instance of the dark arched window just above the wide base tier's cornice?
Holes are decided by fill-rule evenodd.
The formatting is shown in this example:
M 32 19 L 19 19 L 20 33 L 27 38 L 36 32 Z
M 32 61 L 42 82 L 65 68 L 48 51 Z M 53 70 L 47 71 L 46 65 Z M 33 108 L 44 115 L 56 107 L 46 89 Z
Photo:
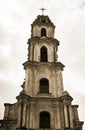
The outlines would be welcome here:
M 49 81 L 46 78 L 40 80 L 40 93 L 49 93 Z

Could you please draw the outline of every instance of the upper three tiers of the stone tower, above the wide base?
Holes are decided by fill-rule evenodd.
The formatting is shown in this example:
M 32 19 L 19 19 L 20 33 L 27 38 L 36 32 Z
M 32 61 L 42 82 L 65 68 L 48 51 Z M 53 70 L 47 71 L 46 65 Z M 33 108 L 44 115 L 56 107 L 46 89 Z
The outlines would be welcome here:
M 30 96 L 39 96 L 43 91 L 44 96 L 60 97 L 64 91 L 62 78 L 64 65 L 58 62 L 59 41 L 54 38 L 55 26 L 48 16 L 39 15 L 31 27 L 28 61 L 24 63 L 26 70 L 24 90 Z M 46 87 L 48 90 L 45 90 Z

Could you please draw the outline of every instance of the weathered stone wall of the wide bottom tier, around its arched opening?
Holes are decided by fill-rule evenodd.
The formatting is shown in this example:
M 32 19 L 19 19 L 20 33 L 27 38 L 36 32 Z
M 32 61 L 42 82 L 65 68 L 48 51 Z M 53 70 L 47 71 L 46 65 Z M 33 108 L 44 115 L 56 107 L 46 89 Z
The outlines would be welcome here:
M 65 92 L 66 94 L 66 92 Z M 52 98 L 50 95 L 37 96 L 35 98 L 29 98 L 28 96 L 22 95 L 19 97 L 18 104 L 11 104 L 8 108 L 5 109 L 5 117 L 2 123 L 3 126 L 0 127 L 0 130 L 16 130 L 20 127 L 20 122 L 22 120 L 22 127 L 27 129 L 39 129 L 40 124 L 40 113 L 48 112 L 50 114 L 50 129 L 64 130 L 69 128 L 75 130 L 76 128 L 81 128 L 83 122 L 79 121 L 77 105 L 71 105 L 72 98 L 67 94 L 63 95 L 60 98 Z M 22 100 L 23 102 L 21 103 Z M 23 109 L 21 110 L 21 106 Z M 16 110 L 15 110 L 16 109 Z M 7 113 L 6 113 L 7 112 Z M 6 117 L 8 115 L 8 119 Z M 22 118 L 21 118 L 22 115 Z M 15 120 L 17 118 L 17 120 Z M 20 120 L 19 120 L 20 119 Z

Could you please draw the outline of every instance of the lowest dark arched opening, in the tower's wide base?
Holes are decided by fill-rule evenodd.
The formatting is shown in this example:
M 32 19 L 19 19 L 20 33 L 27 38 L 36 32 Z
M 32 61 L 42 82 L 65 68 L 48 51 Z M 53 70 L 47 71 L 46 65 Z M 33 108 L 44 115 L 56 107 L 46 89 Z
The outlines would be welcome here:
M 50 113 L 41 112 L 39 121 L 40 128 L 50 128 Z

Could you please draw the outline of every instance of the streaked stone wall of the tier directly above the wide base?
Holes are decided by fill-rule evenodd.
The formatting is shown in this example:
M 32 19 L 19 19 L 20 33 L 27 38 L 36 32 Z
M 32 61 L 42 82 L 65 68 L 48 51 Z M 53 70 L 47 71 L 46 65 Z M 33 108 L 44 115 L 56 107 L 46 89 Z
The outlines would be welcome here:
M 36 77 L 36 78 L 35 78 Z M 40 93 L 40 79 L 49 80 L 49 93 L 53 97 L 60 97 L 63 92 L 63 80 L 61 70 L 56 69 L 51 64 L 42 63 L 40 65 L 29 66 L 26 70 L 25 91 L 27 95 L 37 96 Z

